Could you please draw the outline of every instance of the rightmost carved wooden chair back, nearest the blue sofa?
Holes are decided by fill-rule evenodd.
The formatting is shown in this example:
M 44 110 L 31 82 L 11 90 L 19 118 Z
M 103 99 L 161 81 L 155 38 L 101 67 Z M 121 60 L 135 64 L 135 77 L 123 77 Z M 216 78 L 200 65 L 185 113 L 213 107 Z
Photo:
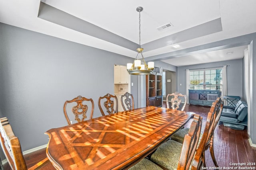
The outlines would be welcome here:
M 196 150 L 194 161 L 192 163 L 192 170 L 202 169 L 202 166 L 206 167 L 204 151 L 208 148 L 210 148 L 210 154 L 212 156 L 212 160 L 215 166 L 218 167 L 213 150 L 213 135 L 214 129 L 217 124 L 216 122 L 218 122 L 218 119 L 222 112 L 222 108 L 223 101 L 218 98 L 216 102 L 213 102 L 210 112 L 208 112 L 204 133 L 202 135 L 202 139 L 199 143 L 198 149 Z

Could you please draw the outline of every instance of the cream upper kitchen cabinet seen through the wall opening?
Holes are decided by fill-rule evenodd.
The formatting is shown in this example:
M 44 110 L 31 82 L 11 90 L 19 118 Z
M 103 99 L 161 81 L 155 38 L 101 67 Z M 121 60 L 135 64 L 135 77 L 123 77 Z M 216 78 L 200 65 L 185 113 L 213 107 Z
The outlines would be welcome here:
M 114 84 L 128 84 L 128 76 L 126 66 L 114 66 Z

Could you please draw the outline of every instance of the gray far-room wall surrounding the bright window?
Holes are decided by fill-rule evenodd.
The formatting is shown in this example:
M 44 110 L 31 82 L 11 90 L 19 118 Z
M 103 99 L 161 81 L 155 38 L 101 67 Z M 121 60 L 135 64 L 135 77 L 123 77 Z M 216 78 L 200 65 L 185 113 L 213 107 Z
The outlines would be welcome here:
M 178 92 L 186 94 L 186 69 L 211 68 L 227 66 L 228 95 L 243 97 L 243 60 L 230 60 L 215 63 L 196 64 L 178 67 L 177 87 Z M 181 86 L 180 86 L 181 84 Z

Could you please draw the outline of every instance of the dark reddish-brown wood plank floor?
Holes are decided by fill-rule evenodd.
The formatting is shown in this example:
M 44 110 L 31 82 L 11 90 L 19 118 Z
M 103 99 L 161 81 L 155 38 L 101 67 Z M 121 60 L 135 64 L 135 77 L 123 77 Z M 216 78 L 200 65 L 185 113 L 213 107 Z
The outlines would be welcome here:
M 163 105 L 165 107 L 166 104 Z M 200 114 L 203 117 L 202 130 L 204 129 L 207 118 L 208 106 L 188 105 L 185 111 L 191 111 Z M 190 122 L 186 125 L 189 127 Z M 247 135 L 247 129 L 242 131 L 224 127 L 222 124 L 217 126 L 214 132 L 214 153 L 218 165 L 224 167 L 236 167 L 230 165 L 231 163 L 250 163 L 256 162 L 256 148 L 250 147 Z M 46 157 L 46 150 L 41 149 L 33 154 L 25 155 L 27 164 L 34 164 L 38 159 Z M 209 151 L 206 151 L 206 166 L 214 167 Z M 241 166 L 250 167 L 250 166 Z M 255 167 L 255 166 L 251 166 Z M 42 170 L 54 170 L 54 167 L 49 163 L 46 164 Z M 10 170 L 10 166 L 5 165 L 4 170 Z

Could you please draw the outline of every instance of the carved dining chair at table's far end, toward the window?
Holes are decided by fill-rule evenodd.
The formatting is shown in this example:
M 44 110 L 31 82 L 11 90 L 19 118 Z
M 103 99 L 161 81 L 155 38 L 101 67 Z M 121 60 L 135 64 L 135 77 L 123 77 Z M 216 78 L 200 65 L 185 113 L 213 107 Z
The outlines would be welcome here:
M 167 97 L 166 97 L 166 106 L 167 108 L 170 108 L 169 107 L 169 97 L 172 97 L 173 98 L 171 99 L 171 107 L 172 109 L 178 109 L 180 107 L 180 104 L 181 104 L 181 99 L 179 97 L 184 97 L 185 99 L 185 102 L 184 102 L 184 105 L 182 106 L 182 108 L 180 109 L 181 111 L 184 111 L 185 107 L 186 107 L 186 104 L 187 104 L 187 96 L 185 94 L 180 94 L 179 92 L 174 92 L 172 94 L 168 94 Z

